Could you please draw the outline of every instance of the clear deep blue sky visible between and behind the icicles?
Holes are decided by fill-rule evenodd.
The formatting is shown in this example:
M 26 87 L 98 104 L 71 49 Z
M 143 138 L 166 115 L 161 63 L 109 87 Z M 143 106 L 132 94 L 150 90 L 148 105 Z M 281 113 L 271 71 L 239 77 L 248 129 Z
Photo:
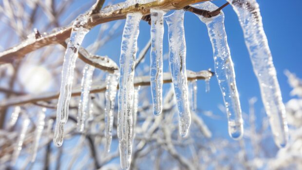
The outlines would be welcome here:
M 220 6 L 226 3 L 225 0 L 213 0 L 213 3 Z M 302 14 L 300 7 L 301 0 L 268 1 L 258 0 L 263 17 L 264 31 L 268 38 L 269 47 L 273 55 L 273 61 L 277 70 L 278 80 L 283 94 L 283 102 L 287 102 L 292 96 L 289 95 L 291 88 L 287 83 L 284 70 L 295 73 L 302 77 Z M 254 75 L 249 55 L 245 46 L 243 32 L 238 18 L 231 6 L 224 10 L 225 26 L 227 32 L 228 45 L 234 62 L 238 92 L 243 112 L 248 112 L 248 99 L 256 96 L 256 113 L 259 115 L 257 121 L 261 121 L 262 116 L 266 116 L 263 111 L 263 104 L 260 97 L 260 89 L 256 76 Z M 124 21 L 122 26 L 124 25 Z M 84 44 L 91 43 L 99 27 L 94 28 L 85 38 Z M 120 30 L 122 31 L 122 30 Z M 202 23 L 194 14 L 185 14 L 185 34 L 187 43 L 187 69 L 193 71 L 214 70 L 212 57 L 212 47 L 208 38 L 206 25 Z M 140 35 L 138 38 L 138 48 L 142 49 L 150 38 L 150 26 L 141 21 Z M 120 55 L 121 35 L 110 41 L 102 49 L 99 55 L 108 55 L 118 62 Z M 139 53 L 139 51 L 138 51 Z M 167 25 L 165 25 L 164 54 L 169 53 Z M 145 62 L 140 66 L 149 65 L 149 53 Z M 164 63 L 164 71 L 169 71 L 168 61 Z M 214 136 L 227 137 L 227 117 L 218 109 L 219 104 L 223 104 L 223 98 L 218 86 L 216 77 L 210 81 L 210 92 L 205 93 L 205 82 L 198 81 L 198 108 L 213 111 L 214 114 L 222 116 L 222 119 L 213 120 L 203 116 L 207 125 L 214 130 Z

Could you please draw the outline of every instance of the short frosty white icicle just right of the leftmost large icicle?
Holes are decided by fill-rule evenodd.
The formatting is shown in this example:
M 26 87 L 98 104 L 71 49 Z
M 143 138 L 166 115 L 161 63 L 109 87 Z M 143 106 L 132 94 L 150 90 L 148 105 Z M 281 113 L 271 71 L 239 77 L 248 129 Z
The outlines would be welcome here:
M 83 69 L 83 77 L 81 81 L 81 98 L 77 111 L 77 131 L 83 132 L 86 118 L 89 114 L 89 93 L 91 89 L 92 77 L 94 74 L 94 66 L 86 64 Z

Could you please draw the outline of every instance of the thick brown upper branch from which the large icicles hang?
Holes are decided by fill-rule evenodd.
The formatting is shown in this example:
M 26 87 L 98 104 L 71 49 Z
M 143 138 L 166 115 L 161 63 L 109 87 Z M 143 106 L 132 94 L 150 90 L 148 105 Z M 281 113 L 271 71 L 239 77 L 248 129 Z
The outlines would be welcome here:
M 144 16 L 150 14 L 151 8 L 163 10 L 183 9 L 185 6 L 208 0 L 156 0 L 146 4 L 135 4 L 124 9 L 115 10 L 108 13 L 97 13 L 90 16 L 87 24 L 88 28 L 113 21 L 125 19 L 128 13 L 141 12 Z M 24 57 L 26 54 L 33 52 L 50 44 L 64 43 L 70 37 L 72 27 L 62 28 L 61 30 L 46 34 L 45 36 L 37 37 L 37 39 L 26 39 L 20 42 L 15 47 L 12 47 L 0 53 L 0 64 L 11 63 L 16 59 Z M 82 58 L 81 58 L 82 59 Z

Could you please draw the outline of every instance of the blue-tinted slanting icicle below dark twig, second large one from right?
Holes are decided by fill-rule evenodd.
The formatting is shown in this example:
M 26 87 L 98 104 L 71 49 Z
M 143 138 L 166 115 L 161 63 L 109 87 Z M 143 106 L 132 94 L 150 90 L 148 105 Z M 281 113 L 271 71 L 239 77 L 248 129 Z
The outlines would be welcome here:
M 193 5 L 195 8 L 214 11 L 218 7 L 211 2 Z M 228 133 L 233 139 L 243 136 L 243 119 L 237 91 L 233 61 L 227 44 L 224 13 L 212 18 L 196 15 L 208 27 L 208 36 L 213 47 L 215 73 L 227 109 Z

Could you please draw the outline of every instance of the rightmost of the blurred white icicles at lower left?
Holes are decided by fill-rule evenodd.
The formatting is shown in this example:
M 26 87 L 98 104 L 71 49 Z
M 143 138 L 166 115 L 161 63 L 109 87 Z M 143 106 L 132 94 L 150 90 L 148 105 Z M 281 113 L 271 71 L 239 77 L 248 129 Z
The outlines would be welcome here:
M 33 156 L 32 156 L 32 162 L 35 162 L 36 157 L 37 157 L 37 151 L 38 151 L 38 146 L 39 146 L 39 140 L 41 138 L 42 131 L 44 129 L 45 125 L 45 112 L 46 108 L 43 108 L 39 113 L 38 113 L 38 122 L 36 125 L 36 132 L 35 132 L 35 140 L 33 143 Z

